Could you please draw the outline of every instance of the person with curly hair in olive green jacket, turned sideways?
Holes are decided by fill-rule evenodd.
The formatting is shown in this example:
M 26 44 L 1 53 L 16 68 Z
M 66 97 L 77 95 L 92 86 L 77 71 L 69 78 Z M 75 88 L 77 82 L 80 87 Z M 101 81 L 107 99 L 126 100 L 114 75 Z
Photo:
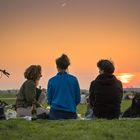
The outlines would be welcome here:
M 41 75 L 40 65 L 31 65 L 24 72 L 24 77 L 27 79 L 21 86 L 16 99 L 16 111 L 20 117 L 31 116 L 32 105 L 36 105 L 37 115 L 48 111 L 41 107 L 45 101 L 45 90 L 38 89 Z

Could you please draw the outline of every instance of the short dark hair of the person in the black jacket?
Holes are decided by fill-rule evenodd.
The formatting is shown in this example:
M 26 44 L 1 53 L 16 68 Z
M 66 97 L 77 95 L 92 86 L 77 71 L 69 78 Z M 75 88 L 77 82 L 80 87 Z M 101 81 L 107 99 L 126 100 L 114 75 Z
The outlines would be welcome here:
M 104 73 L 107 74 L 113 74 L 115 71 L 115 67 L 114 67 L 114 63 L 112 60 L 108 60 L 108 59 L 101 59 L 98 61 L 97 63 L 97 67 L 100 70 L 103 70 Z

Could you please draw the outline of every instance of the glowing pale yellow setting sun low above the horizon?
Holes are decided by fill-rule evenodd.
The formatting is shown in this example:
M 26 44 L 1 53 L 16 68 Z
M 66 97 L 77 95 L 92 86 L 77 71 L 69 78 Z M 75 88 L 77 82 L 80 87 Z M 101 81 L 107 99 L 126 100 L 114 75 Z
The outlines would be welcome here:
M 121 73 L 117 77 L 121 80 L 122 83 L 128 84 L 133 79 L 135 75 L 130 73 Z

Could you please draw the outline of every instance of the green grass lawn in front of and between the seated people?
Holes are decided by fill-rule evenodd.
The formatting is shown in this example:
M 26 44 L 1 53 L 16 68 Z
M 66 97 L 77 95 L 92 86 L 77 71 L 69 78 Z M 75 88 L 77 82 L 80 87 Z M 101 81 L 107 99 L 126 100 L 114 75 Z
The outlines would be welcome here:
M 122 111 L 129 105 L 123 101 Z M 85 111 L 78 106 L 78 113 Z M 0 140 L 139 140 L 139 132 L 139 120 L 0 121 Z

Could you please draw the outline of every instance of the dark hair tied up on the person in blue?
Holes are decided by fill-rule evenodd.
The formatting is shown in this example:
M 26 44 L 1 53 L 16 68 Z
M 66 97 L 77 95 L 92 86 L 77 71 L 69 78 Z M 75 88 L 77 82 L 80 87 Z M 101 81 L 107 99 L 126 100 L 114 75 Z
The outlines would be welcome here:
M 62 54 L 59 58 L 56 59 L 56 65 L 61 70 L 66 70 L 70 65 L 70 59 L 66 54 Z

